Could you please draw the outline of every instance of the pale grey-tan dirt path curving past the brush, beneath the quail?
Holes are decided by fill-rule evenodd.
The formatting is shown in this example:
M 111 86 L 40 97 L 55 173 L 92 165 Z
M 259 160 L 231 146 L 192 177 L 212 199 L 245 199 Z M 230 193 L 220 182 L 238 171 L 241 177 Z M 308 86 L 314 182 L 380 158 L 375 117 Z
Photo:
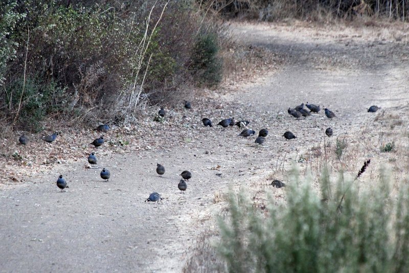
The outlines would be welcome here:
M 217 213 L 216 192 L 250 185 L 252 177 L 274 169 L 284 154 L 290 164 L 322 140 L 326 127 L 335 135 L 359 131 L 373 119 L 365 110 L 372 104 L 388 109 L 406 107 L 409 101 L 408 38 L 400 31 L 232 28 L 243 43 L 281 56 L 284 66 L 231 86 L 221 97 L 201 99 L 192 111 L 176 109 L 168 124 L 143 129 L 155 132 L 150 149 L 122 155 L 98 150 L 98 166 L 111 172 L 107 183 L 99 178 L 100 169 L 84 169 L 81 159 L 1 190 L 0 271 L 180 272 L 189 247 Z M 334 110 L 337 118 L 328 120 L 321 113 L 298 121 L 288 116 L 289 106 L 307 101 Z M 249 119 L 254 130 L 269 129 L 266 145 L 257 148 L 254 138 L 238 139 L 235 128 L 203 128 L 202 117 L 214 124 L 225 117 Z M 286 130 L 298 139 L 285 141 L 281 135 Z M 156 163 L 165 166 L 164 177 L 155 173 Z M 179 194 L 178 174 L 186 169 L 193 177 L 186 194 Z M 60 173 L 70 186 L 65 193 L 55 186 Z M 162 193 L 163 204 L 144 202 L 153 191 Z

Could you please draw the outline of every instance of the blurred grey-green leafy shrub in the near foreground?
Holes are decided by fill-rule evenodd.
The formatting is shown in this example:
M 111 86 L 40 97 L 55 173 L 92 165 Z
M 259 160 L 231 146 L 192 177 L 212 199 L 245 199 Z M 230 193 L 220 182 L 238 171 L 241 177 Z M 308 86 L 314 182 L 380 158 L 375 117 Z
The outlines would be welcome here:
M 329 176 L 321 181 L 329 185 Z M 309 181 L 286 188 L 287 203 L 270 199 L 268 213 L 243 192 L 230 195 L 220 219 L 220 254 L 230 272 L 404 272 L 409 265 L 409 188 L 391 196 L 382 173 L 377 187 L 359 192 L 340 178 L 322 199 Z M 344 197 L 343 197 L 344 196 Z M 340 200 L 344 202 L 340 205 Z

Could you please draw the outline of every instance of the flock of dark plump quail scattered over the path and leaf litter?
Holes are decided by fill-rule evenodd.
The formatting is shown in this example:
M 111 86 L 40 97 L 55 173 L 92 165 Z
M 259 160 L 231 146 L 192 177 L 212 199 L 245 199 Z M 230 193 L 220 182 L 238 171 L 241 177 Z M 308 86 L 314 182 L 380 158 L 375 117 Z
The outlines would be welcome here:
M 191 109 L 191 103 L 189 101 L 185 101 L 185 108 L 187 109 Z M 308 116 L 311 116 L 311 113 L 319 113 L 321 111 L 320 105 L 314 105 L 314 104 L 307 104 L 305 105 L 307 109 L 304 108 L 304 103 L 302 103 L 301 105 L 298 105 L 294 108 L 288 108 L 287 112 L 289 113 L 289 115 L 293 116 L 296 119 L 300 119 L 302 117 L 307 118 Z M 376 106 L 376 105 L 372 105 L 371 107 L 369 107 L 368 112 L 376 112 L 378 109 L 380 109 L 380 107 Z M 330 109 L 325 108 L 325 116 L 329 119 L 332 119 L 335 116 L 334 112 L 332 112 Z M 163 107 L 161 107 L 161 109 L 158 111 L 158 115 L 161 117 L 165 117 L 166 116 L 166 111 Z M 202 123 L 205 127 L 213 127 L 212 126 L 212 121 L 208 118 L 203 118 Z M 228 118 L 228 119 L 224 119 L 222 121 L 220 121 L 217 125 L 222 126 L 223 128 L 229 127 L 229 126 L 238 126 L 239 128 L 243 128 L 243 127 L 247 127 L 247 125 L 249 124 L 249 121 L 246 120 L 240 120 L 235 122 L 234 118 Z M 99 125 L 97 128 L 95 128 L 95 130 L 98 130 L 100 132 L 108 132 L 109 130 L 109 126 L 107 124 L 101 124 Z M 57 139 L 57 136 L 60 132 L 54 132 L 51 135 L 47 135 L 46 137 L 42 137 L 41 140 L 46 141 L 48 143 L 52 143 Z M 252 129 L 243 129 L 241 131 L 241 133 L 238 134 L 239 137 L 251 137 L 252 135 L 255 135 L 256 131 L 252 130 Z M 328 137 L 331 137 L 331 135 L 333 134 L 333 131 L 331 128 L 327 128 L 325 130 L 325 134 L 328 135 Z M 265 142 L 265 138 L 268 135 L 268 130 L 263 128 L 259 131 L 258 137 L 255 140 L 256 144 L 262 145 Z M 286 131 L 284 132 L 284 134 L 282 135 L 286 140 L 292 140 L 292 139 L 296 139 L 296 135 L 294 135 L 291 131 Z M 25 137 L 24 134 L 20 135 L 19 139 L 18 139 L 19 143 L 22 145 L 26 145 L 28 142 L 28 139 Z M 101 135 L 100 138 L 94 140 L 93 142 L 90 143 L 90 145 L 94 145 L 96 148 L 98 148 L 99 146 L 104 144 L 104 135 Z M 95 152 L 92 152 L 89 154 L 88 156 L 88 163 L 92 166 L 92 168 L 94 168 L 93 166 L 97 165 L 97 157 L 95 156 Z M 165 167 L 161 164 L 157 164 L 156 166 L 156 173 L 158 175 L 160 175 L 162 177 L 163 174 L 165 174 Z M 181 174 L 182 179 L 180 179 L 179 184 L 177 185 L 177 188 L 180 190 L 180 193 L 184 193 L 187 188 L 188 185 L 186 183 L 186 181 L 189 181 L 190 178 L 192 178 L 192 173 L 189 171 L 183 171 Z M 108 169 L 103 168 L 100 176 L 102 179 L 109 181 L 109 177 L 110 177 L 110 172 Z M 283 182 L 281 182 L 280 180 L 274 180 L 272 181 L 271 185 L 273 187 L 276 188 L 281 188 L 281 187 L 285 187 L 285 184 Z M 59 189 L 61 189 L 61 192 L 65 189 L 65 188 L 69 188 L 69 186 L 67 185 L 65 179 L 62 177 L 62 175 L 59 175 L 58 179 L 57 179 L 57 187 Z M 157 193 L 157 192 L 153 192 L 149 195 L 149 197 L 145 200 L 148 202 L 159 202 L 160 200 L 162 200 L 161 194 Z

